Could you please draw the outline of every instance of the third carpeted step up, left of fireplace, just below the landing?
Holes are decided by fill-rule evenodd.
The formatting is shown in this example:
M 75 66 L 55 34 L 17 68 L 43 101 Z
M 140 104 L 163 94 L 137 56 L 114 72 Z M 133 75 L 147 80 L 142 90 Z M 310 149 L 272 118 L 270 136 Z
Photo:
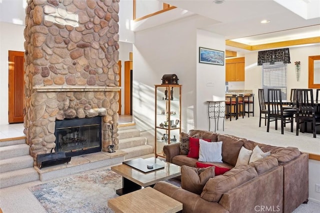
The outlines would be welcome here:
M 23 155 L 29 155 L 29 146 L 25 143 L 0 147 L 0 159 Z

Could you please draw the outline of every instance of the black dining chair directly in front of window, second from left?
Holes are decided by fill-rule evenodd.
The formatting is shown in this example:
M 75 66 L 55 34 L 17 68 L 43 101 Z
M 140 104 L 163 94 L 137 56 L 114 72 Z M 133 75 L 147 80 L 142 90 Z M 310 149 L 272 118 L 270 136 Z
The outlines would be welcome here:
M 283 134 L 283 128 L 285 123 L 290 123 L 290 131 L 293 132 L 293 116 L 294 113 L 283 110 L 281 89 L 268 89 L 268 117 L 266 131 L 269 132 L 270 122 L 275 121 L 275 130 L 277 129 L 277 120 L 281 121 L 281 134 Z

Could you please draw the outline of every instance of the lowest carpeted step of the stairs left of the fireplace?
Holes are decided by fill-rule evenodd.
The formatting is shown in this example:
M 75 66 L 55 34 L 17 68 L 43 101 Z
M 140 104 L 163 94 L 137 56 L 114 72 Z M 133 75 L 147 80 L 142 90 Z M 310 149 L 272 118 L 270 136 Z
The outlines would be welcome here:
M 0 188 L 19 185 L 35 180 L 39 180 L 39 174 L 33 167 L 8 171 L 0 174 Z

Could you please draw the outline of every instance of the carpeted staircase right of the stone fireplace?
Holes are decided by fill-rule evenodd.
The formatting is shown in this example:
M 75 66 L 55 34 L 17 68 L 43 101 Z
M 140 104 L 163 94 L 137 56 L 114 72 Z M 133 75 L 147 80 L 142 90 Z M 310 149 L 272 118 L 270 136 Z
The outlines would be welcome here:
M 147 138 L 141 136 L 140 130 L 133 123 L 118 126 L 118 149 L 125 151 L 125 159 L 153 153 L 153 146 L 147 144 Z

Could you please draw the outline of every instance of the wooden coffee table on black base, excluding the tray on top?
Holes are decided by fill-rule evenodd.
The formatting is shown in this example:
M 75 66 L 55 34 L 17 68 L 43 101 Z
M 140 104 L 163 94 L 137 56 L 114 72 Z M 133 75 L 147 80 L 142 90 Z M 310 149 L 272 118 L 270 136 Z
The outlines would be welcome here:
M 142 172 L 126 164 L 111 166 L 112 171 L 122 176 L 122 188 L 116 190 L 118 195 L 130 193 L 142 187 L 152 186 L 160 180 L 181 175 L 181 167 L 173 163 L 155 157 L 149 157 L 143 160 L 145 160 L 147 164 L 156 163 L 164 167 L 150 172 Z

